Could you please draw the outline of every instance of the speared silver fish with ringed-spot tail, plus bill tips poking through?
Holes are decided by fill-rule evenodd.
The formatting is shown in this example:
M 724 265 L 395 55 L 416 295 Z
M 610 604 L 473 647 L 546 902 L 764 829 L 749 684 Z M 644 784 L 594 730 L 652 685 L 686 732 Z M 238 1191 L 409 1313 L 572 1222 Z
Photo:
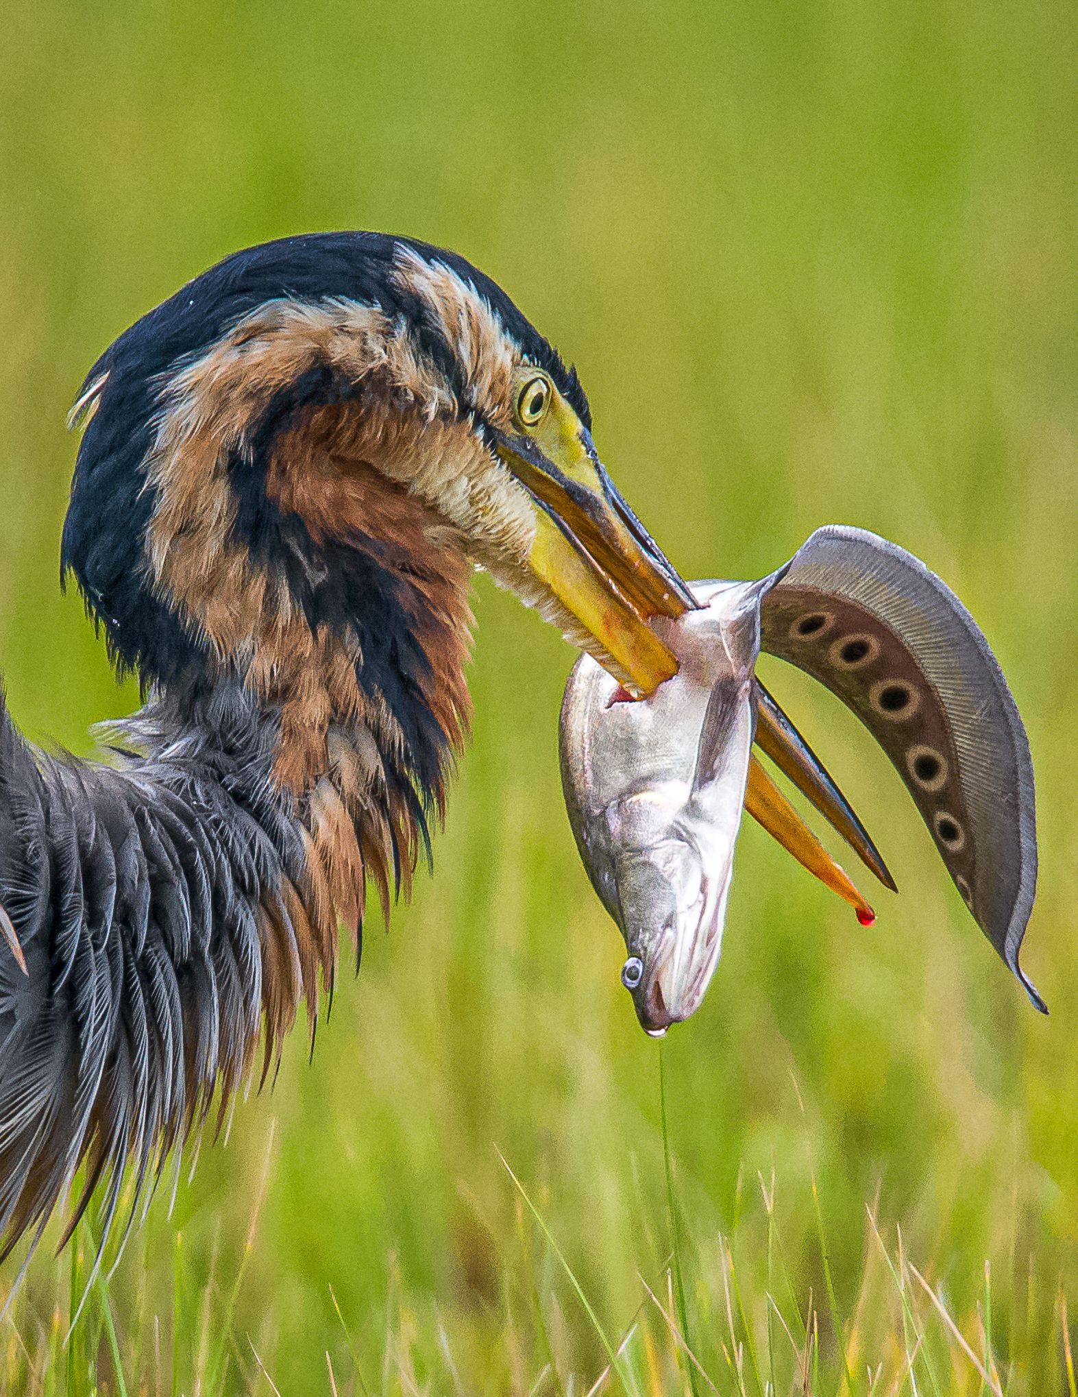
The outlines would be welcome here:
M 804 833 L 754 746 L 896 891 L 867 831 L 761 683 L 762 652 L 829 689 L 898 771 L 958 893 L 1036 1009 L 1019 965 L 1036 895 L 1036 796 L 1018 707 L 987 640 L 915 555 L 866 529 L 817 529 L 757 581 L 690 583 L 655 620 L 677 673 L 637 698 L 581 657 L 561 703 L 570 826 L 627 950 L 621 979 L 647 1032 L 690 1018 L 715 975 L 747 807 L 869 925 L 874 911 Z

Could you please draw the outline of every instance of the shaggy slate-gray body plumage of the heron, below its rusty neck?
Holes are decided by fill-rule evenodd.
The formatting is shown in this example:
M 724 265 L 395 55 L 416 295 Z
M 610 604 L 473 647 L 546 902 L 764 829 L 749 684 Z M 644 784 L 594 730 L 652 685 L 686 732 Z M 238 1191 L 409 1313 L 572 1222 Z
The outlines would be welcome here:
M 151 710 L 148 750 L 113 770 L 36 752 L 0 696 L 0 902 L 27 961 L 0 943 L 0 1257 L 36 1243 L 84 1162 L 68 1234 L 101 1179 L 108 1232 L 128 1161 L 134 1217 L 251 1066 L 263 909 L 295 954 L 281 888 L 302 877 L 254 722 L 237 701 L 155 745 Z

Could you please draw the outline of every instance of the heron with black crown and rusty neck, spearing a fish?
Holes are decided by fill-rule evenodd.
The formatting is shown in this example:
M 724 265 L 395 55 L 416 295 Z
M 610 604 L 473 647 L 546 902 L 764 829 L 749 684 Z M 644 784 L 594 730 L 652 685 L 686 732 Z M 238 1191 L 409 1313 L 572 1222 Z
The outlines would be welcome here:
M 102 353 L 71 423 L 63 577 L 142 705 L 95 761 L 0 705 L 3 1256 L 68 1203 L 63 1245 L 98 1189 L 103 1246 L 124 1179 L 134 1218 L 304 1003 L 313 1032 L 366 890 L 388 915 L 429 858 L 476 567 L 635 697 L 677 668 L 651 620 L 694 606 L 575 370 L 411 237 L 228 256 Z M 771 742 L 856 842 L 778 721 Z M 796 854 L 753 771 L 750 809 Z

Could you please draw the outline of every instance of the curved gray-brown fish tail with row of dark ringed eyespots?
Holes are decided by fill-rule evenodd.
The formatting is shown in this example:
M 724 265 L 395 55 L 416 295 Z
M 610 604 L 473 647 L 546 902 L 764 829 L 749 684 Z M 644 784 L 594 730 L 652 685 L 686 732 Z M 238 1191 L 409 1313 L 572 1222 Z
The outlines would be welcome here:
M 975 919 L 1047 1011 L 1018 963 L 1038 875 L 1029 742 L 965 606 L 905 549 L 829 525 L 764 599 L 761 637 L 881 743 Z

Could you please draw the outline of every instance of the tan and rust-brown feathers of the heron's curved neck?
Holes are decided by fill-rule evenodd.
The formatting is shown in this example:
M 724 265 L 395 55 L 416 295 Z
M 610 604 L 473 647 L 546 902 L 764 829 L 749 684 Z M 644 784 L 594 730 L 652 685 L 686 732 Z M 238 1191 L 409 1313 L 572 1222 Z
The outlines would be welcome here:
M 395 636 L 423 657 L 390 676 L 394 704 L 362 654 L 362 627 L 339 609 L 313 620 L 288 583 L 295 559 L 258 553 L 237 528 L 236 462 L 258 465 L 258 423 L 313 363 L 360 386 L 360 401 L 286 415 L 258 467 L 267 504 L 285 527 L 302 522 L 302 566 L 321 580 L 332 583 L 352 550 L 366 557 L 363 576 L 391 588 Z M 253 316 L 176 376 L 147 461 L 155 591 L 202 638 L 211 673 L 237 675 L 279 715 L 272 780 L 300 813 L 302 891 L 323 930 L 338 916 L 357 928 L 364 873 L 387 904 L 394 880 L 406 891 L 423 837 L 412 784 L 441 813 L 444 767 L 468 732 L 469 567 L 459 522 L 440 504 L 455 497 L 451 482 L 489 461 L 441 405 L 443 390 L 377 312 L 285 306 Z M 377 601 L 370 615 L 380 615 Z M 353 588 L 348 605 L 363 610 L 364 598 Z M 388 645 L 395 636 L 376 638 Z M 402 703 L 426 733 L 440 733 L 426 742 L 436 756 L 423 771 Z

